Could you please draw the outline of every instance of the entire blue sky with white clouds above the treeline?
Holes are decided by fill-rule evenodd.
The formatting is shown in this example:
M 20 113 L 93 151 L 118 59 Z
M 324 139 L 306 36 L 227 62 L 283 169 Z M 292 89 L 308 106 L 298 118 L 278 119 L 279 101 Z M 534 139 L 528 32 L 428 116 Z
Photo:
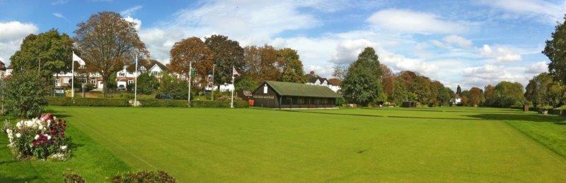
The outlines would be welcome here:
M 412 70 L 456 89 L 526 83 L 548 70 L 541 51 L 564 22 L 566 1 L 120 1 L 0 0 L 0 60 L 28 34 L 77 24 L 100 11 L 137 23 L 151 58 L 187 37 L 223 34 L 241 46 L 296 49 L 305 72 L 331 77 L 366 46 L 394 72 Z

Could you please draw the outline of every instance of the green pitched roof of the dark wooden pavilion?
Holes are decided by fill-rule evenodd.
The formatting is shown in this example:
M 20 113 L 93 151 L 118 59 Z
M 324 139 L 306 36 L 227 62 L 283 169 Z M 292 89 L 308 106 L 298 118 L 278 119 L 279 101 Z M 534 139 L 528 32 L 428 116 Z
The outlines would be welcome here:
M 311 97 L 325 97 L 325 98 L 340 98 L 339 94 L 332 91 L 332 89 L 323 86 L 316 86 L 310 84 L 301 84 L 294 82 L 273 82 L 266 81 L 277 94 L 282 96 L 311 96 Z

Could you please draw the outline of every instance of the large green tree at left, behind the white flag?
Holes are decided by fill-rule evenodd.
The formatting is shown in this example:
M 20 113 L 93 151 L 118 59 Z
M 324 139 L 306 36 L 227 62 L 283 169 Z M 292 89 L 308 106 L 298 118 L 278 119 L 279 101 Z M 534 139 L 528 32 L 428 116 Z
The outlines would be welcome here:
M 73 40 L 67 34 L 49 30 L 29 34 L 23 39 L 20 50 L 10 57 L 14 72 L 39 70 L 45 87 L 53 87 L 53 75 L 71 70 Z

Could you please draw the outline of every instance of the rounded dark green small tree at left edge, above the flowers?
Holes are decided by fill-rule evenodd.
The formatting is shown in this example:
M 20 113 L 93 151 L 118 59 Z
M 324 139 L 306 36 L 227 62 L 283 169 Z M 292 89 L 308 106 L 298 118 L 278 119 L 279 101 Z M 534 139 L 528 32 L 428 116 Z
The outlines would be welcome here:
M 12 115 L 34 118 L 39 116 L 47 105 L 47 92 L 37 70 L 14 72 L 8 77 L 2 90 L 6 112 Z

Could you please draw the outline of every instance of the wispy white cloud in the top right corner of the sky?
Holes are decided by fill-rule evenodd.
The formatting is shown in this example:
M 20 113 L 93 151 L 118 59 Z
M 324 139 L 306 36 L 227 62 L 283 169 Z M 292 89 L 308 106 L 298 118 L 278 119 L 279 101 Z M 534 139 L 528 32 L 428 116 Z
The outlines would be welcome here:
M 543 22 L 552 25 L 562 20 L 566 11 L 565 1 L 562 1 L 562 4 L 543 0 L 482 0 L 480 2 L 511 13 L 504 15 L 506 18 L 542 18 Z

